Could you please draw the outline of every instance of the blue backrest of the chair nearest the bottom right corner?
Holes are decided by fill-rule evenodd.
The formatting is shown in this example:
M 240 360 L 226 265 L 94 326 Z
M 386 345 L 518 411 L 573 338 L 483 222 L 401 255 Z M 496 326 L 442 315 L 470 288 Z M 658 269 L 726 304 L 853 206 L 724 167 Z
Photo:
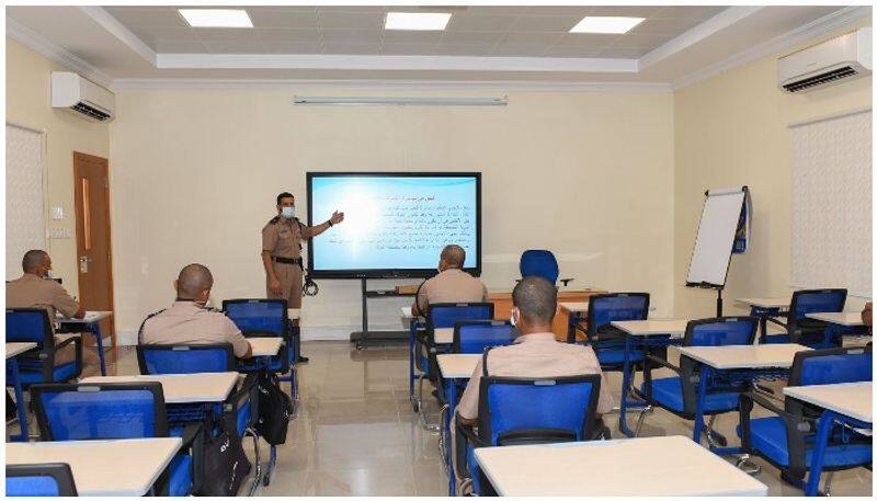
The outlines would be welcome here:
M 831 385 L 874 379 L 872 346 L 811 350 L 795 354 L 789 386 Z

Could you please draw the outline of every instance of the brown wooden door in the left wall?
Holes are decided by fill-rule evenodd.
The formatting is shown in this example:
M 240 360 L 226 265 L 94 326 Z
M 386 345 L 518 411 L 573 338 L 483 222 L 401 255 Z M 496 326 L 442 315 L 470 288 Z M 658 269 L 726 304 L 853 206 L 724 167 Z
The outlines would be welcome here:
M 73 151 L 76 250 L 79 298 L 89 311 L 113 311 L 113 255 L 110 246 L 110 178 L 105 158 Z M 113 317 L 101 322 L 116 353 Z M 84 337 L 89 345 L 91 335 Z

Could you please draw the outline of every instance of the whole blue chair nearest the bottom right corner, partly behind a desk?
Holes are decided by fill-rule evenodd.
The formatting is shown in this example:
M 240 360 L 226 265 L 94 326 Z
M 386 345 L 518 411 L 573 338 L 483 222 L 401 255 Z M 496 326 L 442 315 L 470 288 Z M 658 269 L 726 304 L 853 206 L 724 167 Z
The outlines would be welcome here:
M 874 379 L 873 362 L 870 345 L 798 352 L 788 386 L 869 382 Z M 775 415 L 753 419 L 754 403 Z M 761 456 L 781 470 L 784 480 L 802 488 L 821 414 L 822 409 L 794 398 L 786 398 L 781 409 L 763 396 L 748 391 L 741 397 L 737 434 L 747 453 Z M 835 428 L 829 437 L 823 469 L 835 471 L 869 466 L 872 447 L 870 437 Z M 825 483 L 825 489 L 830 490 L 831 480 Z

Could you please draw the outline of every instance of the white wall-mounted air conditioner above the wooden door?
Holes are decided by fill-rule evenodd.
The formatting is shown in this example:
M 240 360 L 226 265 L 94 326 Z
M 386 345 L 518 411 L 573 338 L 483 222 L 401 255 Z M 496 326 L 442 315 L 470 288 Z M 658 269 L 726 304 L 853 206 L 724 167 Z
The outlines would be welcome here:
M 69 110 L 90 121 L 107 122 L 115 116 L 116 96 L 77 73 L 53 71 L 52 107 Z

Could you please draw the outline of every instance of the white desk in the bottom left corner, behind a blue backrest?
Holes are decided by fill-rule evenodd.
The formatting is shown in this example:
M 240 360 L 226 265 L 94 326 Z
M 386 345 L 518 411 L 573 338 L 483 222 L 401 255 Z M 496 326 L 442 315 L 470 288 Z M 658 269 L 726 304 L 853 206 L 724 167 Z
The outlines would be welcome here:
M 7 465 L 67 463 L 79 496 L 144 496 L 182 446 L 168 439 L 7 444 Z

